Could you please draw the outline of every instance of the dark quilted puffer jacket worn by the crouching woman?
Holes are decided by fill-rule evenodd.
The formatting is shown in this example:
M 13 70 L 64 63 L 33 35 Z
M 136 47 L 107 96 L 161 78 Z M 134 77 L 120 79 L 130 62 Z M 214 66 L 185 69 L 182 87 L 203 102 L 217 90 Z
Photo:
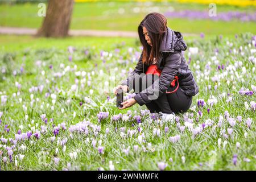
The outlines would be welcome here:
M 154 82 L 147 89 L 136 94 L 134 99 L 139 105 L 147 104 L 152 101 L 149 96 L 158 89 L 158 97 L 160 97 L 170 87 L 170 83 L 175 76 L 179 77 L 179 88 L 188 96 L 195 96 L 199 90 L 193 78 L 191 70 L 188 68 L 187 61 L 181 51 L 187 49 L 187 45 L 183 40 L 180 32 L 171 30 L 164 33 L 162 43 L 160 44 L 161 56 L 158 61 L 158 68 L 162 70 L 159 80 Z M 129 73 L 128 78 L 123 81 L 122 85 L 129 85 L 129 81 L 142 73 L 146 73 L 149 65 L 142 63 L 142 54 L 133 72 Z M 156 85 L 157 84 L 157 85 Z M 156 99 L 156 98 L 155 98 Z

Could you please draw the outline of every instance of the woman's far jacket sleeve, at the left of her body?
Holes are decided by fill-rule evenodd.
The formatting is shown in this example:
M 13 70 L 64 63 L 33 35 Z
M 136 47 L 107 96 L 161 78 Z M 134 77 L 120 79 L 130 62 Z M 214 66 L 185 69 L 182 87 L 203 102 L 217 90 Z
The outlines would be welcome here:
M 134 71 L 132 71 L 131 73 L 128 74 L 127 79 L 122 82 L 122 85 L 127 85 L 128 88 L 129 88 L 129 83 L 133 84 L 133 82 L 132 82 L 133 78 L 135 76 L 140 75 L 141 73 L 143 73 L 142 53 L 141 53 L 141 56 L 139 57 L 139 61 L 136 65 L 136 67 L 134 68 Z M 132 88 L 132 86 L 130 86 L 130 88 Z M 127 92 L 130 91 L 130 88 L 129 88 L 129 90 L 127 90 Z

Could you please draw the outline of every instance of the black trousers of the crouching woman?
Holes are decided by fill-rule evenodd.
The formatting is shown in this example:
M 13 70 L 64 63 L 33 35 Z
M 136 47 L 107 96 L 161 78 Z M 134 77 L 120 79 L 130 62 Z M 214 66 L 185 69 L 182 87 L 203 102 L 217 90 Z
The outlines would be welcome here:
M 152 75 L 145 75 L 146 79 L 150 76 L 151 77 L 151 84 L 146 85 L 146 88 L 154 82 L 154 78 Z M 137 81 L 139 80 L 139 92 L 142 92 L 142 80 L 143 78 L 139 76 Z M 137 84 L 138 85 L 138 84 Z M 133 89 L 135 88 L 135 79 L 133 79 Z M 171 86 L 167 89 L 167 91 L 172 91 L 175 88 Z M 138 89 L 134 89 L 135 93 L 138 94 Z M 156 100 L 152 100 L 151 102 L 145 104 L 147 109 L 150 110 L 150 113 L 162 113 L 171 114 L 171 113 L 184 113 L 189 109 L 192 104 L 192 96 L 188 96 L 187 94 L 183 93 L 180 88 L 177 89 L 174 93 L 164 93 Z

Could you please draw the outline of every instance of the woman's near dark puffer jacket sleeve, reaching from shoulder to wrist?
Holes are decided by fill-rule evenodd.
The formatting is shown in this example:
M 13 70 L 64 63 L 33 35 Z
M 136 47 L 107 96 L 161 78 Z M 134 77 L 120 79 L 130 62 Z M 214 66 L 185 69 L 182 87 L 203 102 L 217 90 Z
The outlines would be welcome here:
M 142 92 L 136 94 L 134 97 L 137 103 L 142 106 L 162 96 L 177 75 L 180 62 L 181 53 L 168 54 L 159 78 L 151 86 L 148 86 L 148 88 L 142 90 Z M 152 94 L 154 94 L 154 97 L 152 97 Z

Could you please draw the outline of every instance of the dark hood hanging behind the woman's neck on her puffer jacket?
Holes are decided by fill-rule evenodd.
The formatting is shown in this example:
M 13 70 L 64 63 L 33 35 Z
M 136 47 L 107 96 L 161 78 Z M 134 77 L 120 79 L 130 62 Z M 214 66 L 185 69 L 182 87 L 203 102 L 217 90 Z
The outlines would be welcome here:
M 186 49 L 187 44 L 183 40 L 181 33 L 167 27 L 167 31 L 164 32 L 163 40 L 160 44 L 160 52 L 185 51 Z

